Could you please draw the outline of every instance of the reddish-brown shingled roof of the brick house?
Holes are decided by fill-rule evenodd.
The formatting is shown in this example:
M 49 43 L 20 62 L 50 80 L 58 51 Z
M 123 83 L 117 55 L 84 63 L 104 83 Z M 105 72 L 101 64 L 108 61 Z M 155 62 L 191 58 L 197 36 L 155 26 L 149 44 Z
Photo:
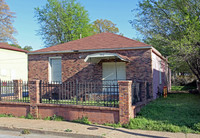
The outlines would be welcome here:
M 55 45 L 48 48 L 39 49 L 31 53 L 50 53 L 61 51 L 79 51 L 79 50 L 106 50 L 106 49 L 130 49 L 134 47 L 149 47 L 145 43 L 123 37 L 113 33 L 100 33 L 88 36 L 82 39 L 70 41 L 67 43 Z

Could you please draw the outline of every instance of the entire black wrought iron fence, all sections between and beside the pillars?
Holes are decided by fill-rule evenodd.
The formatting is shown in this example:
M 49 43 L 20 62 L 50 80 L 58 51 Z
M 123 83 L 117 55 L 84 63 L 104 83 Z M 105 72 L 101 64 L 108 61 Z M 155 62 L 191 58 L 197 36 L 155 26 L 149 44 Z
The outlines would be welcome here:
M 150 99 L 149 83 L 133 81 L 132 104 Z M 40 103 L 90 106 L 119 106 L 117 81 L 40 81 Z M 0 101 L 30 102 L 26 81 L 0 81 Z

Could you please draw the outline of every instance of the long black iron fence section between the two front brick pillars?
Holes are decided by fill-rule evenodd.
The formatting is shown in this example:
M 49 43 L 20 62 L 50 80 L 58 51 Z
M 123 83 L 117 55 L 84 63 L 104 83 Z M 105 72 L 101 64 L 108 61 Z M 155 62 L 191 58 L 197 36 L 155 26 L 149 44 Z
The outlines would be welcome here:
M 40 82 L 40 102 L 118 107 L 117 81 Z

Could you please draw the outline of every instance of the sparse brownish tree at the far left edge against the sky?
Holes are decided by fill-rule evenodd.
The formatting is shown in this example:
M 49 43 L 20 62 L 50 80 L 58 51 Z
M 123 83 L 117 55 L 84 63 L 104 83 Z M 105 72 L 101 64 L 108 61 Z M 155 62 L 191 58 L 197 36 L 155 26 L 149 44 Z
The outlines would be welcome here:
M 14 13 L 10 11 L 6 2 L 0 0 L 0 42 L 16 43 L 16 39 L 13 37 L 16 30 L 12 25 L 14 18 Z

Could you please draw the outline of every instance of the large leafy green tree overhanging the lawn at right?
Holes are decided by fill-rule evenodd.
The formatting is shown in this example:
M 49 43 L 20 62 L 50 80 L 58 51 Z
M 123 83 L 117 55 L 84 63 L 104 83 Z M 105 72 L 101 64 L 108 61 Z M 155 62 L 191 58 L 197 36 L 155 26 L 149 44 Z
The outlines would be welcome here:
M 142 0 L 134 13 L 130 23 L 145 42 L 173 66 L 188 67 L 200 81 L 200 1 Z

